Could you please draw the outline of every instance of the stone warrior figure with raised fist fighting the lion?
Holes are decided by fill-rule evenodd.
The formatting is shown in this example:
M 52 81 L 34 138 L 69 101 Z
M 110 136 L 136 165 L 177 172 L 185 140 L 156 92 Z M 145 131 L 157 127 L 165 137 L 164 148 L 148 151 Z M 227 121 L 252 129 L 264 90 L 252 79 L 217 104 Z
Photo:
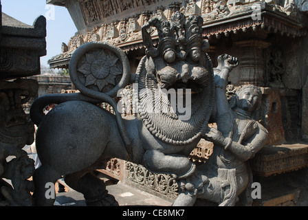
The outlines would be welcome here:
M 197 167 L 194 176 L 181 182 L 183 192 L 173 206 L 192 206 L 197 198 L 234 206 L 238 196 L 252 180 L 248 160 L 263 147 L 267 130 L 252 118 L 261 106 L 261 91 L 246 85 L 236 91 L 236 102 L 230 107 L 225 89 L 236 58 L 223 54 L 214 69 L 215 107 L 212 113 L 217 129 L 209 128 L 204 137 L 213 142 L 213 153 L 206 164 Z

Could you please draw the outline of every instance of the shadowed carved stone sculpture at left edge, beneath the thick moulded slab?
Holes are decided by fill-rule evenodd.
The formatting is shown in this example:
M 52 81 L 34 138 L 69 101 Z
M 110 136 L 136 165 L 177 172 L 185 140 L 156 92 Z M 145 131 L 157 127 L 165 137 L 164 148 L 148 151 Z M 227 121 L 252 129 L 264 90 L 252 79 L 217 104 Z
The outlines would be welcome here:
M 0 81 L 0 88 L 0 177 L 10 179 L 14 187 L 1 179 L 0 206 L 32 206 L 34 187 L 28 179 L 34 173 L 34 162 L 22 148 L 34 141 L 34 124 L 26 119 L 21 104 L 36 95 L 38 84 L 25 79 Z M 7 162 L 9 156 L 15 158 Z

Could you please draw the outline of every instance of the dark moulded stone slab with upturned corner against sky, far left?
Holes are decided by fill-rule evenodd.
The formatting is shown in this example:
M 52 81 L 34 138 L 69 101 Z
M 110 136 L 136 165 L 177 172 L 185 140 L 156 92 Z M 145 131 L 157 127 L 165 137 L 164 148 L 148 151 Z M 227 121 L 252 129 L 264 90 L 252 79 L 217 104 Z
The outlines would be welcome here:
M 2 13 L 0 79 L 40 73 L 40 56 L 46 55 L 46 19 L 41 16 L 26 25 Z

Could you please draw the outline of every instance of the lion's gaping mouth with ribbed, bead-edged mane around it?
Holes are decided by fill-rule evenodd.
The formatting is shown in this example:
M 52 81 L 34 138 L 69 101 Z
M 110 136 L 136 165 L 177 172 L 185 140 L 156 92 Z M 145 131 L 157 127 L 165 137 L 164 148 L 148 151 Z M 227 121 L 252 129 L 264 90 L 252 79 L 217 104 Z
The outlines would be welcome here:
M 146 129 L 162 142 L 175 146 L 194 142 L 207 128 L 212 112 L 212 71 L 206 67 L 192 67 L 190 74 L 183 71 L 189 66 L 179 65 L 175 66 L 177 69 L 170 66 L 159 68 L 159 72 L 153 74 L 155 69 L 151 69 L 149 63 L 151 59 L 144 56 L 136 72 L 138 89 L 135 96 L 138 97 L 140 119 Z

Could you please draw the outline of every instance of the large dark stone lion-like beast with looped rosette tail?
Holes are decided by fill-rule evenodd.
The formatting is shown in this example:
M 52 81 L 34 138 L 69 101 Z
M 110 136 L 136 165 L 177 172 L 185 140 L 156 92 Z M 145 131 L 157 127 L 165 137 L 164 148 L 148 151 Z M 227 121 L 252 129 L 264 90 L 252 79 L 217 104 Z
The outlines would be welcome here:
M 228 137 L 230 128 L 221 130 L 221 121 L 218 124 L 223 135 L 213 129 L 208 132 L 215 83 L 212 62 L 206 54 L 208 42 L 201 36 L 202 23 L 201 17 L 186 19 L 181 12 L 176 12 L 170 22 L 157 18 L 148 21 L 142 27 L 146 56 L 140 61 L 135 78 L 130 74 L 124 52 L 118 47 L 103 42 L 78 47 L 69 72 L 80 93 L 43 96 L 31 107 L 31 118 L 38 125 L 36 149 L 43 164 L 34 173 L 37 206 L 54 203 L 54 199 L 45 197 L 45 184 L 55 183 L 62 175 L 69 186 L 85 195 L 88 205 L 117 205 L 107 194 L 104 182 L 91 173 L 111 157 L 142 164 L 154 173 L 169 173 L 178 181 L 191 181 L 190 185 L 196 186 L 203 170 L 196 169 L 188 155 L 201 137 L 219 146 L 228 146 L 230 150 L 245 150 L 238 140 L 241 132 L 236 130 L 237 126 L 241 129 L 244 126 L 239 125 L 237 119 L 228 118 L 233 115 L 232 111 L 223 105 L 228 101 L 223 100 L 217 89 L 216 107 L 228 111 L 225 119 L 234 124 L 234 135 Z M 148 32 L 153 27 L 159 36 L 157 47 Z M 228 75 L 225 69 L 229 67 L 225 63 L 221 65 L 215 77 Z M 226 78 L 223 80 L 221 85 L 216 84 L 225 89 Z M 129 82 L 137 85 L 133 96 L 138 114 L 133 120 L 121 118 L 114 99 Z M 115 115 L 96 106 L 100 102 L 110 104 Z M 51 103 L 58 105 L 44 115 L 43 108 Z M 214 112 L 221 114 L 221 111 Z M 260 127 L 257 122 L 250 124 L 257 129 Z M 241 138 L 246 141 L 250 137 L 258 140 L 252 136 Z M 259 142 L 260 146 L 256 148 L 259 149 L 262 143 Z M 249 156 L 251 154 L 245 159 Z M 203 186 L 208 181 L 201 177 L 201 183 Z

